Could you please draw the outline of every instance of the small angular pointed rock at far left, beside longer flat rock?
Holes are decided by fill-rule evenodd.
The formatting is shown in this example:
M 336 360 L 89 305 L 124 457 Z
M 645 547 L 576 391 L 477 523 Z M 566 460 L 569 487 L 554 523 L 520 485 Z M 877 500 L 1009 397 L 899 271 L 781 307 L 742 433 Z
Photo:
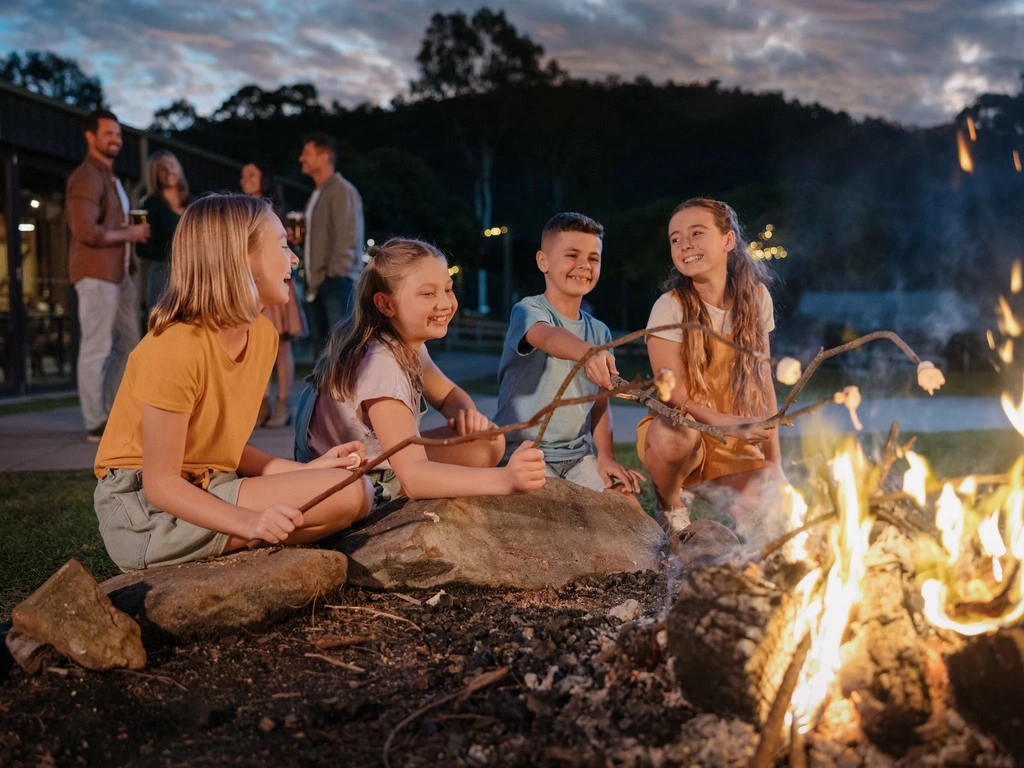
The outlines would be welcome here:
M 89 670 L 145 667 L 139 627 L 114 607 L 78 560 L 69 560 L 11 614 L 14 638 L 52 645 Z M 8 634 L 10 639 L 10 634 Z M 26 644 L 23 656 L 34 655 Z M 8 646 L 10 647 L 10 646 Z M 17 644 L 15 644 L 15 648 Z M 11 648 L 12 652 L 15 648 Z M 17 656 L 15 656 L 16 658 Z

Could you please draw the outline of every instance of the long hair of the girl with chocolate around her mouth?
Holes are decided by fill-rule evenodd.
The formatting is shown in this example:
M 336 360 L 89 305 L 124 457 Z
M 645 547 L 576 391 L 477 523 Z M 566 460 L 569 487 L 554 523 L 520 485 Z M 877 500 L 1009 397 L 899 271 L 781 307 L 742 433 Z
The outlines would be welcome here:
M 381 312 L 374 296 L 393 296 L 409 270 L 421 259 L 435 258 L 447 264 L 444 254 L 420 240 L 392 238 L 370 249 L 370 262 L 364 267 L 355 289 L 355 313 L 350 324 L 339 324 L 328 337 L 327 347 L 313 368 L 313 389 L 336 400 L 355 392 L 355 376 L 370 342 L 376 340 L 394 355 L 409 375 L 413 388 L 423 390 L 423 370 L 417 352 L 394 330 L 391 318 Z

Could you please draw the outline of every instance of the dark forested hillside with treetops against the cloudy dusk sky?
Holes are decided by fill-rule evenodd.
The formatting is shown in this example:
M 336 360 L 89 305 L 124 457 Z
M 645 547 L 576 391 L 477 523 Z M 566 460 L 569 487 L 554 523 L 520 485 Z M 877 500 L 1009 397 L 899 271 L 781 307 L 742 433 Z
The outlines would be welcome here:
M 0 77 L 13 82 L 14 56 L 58 58 L 11 54 Z M 423 237 L 498 274 L 502 244 L 481 232 L 507 226 L 520 295 L 540 286 L 543 223 L 583 211 L 607 231 L 593 304 L 620 328 L 646 321 L 671 266 L 669 213 L 694 196 L 732 204 L 753 240 L 772 225 L 761 245 L 786 254 L 770 261 L 783 315 L 806 290 L 954 288 L 987 301 L 1024 254 L 1024 173 L 1013 155 L 1024 153 L 1024 87 L 919 128 L 716 81 L 586 81 L 487 8 L 434 14 L 417 62 L 409 94 L 386 106 L 326 105 L 311 83 L 247 85 L 205 116 L 175 101 L 151 128 L 295 179 L 302 135 L 330 133 L 339 170 L 364 196 L 369 237 Z M 33 82 L 38 72 L 20 84 Z M 92 99 L 82 105 L 102 100 L 98 81 L 82 94 Z M 46 95 L 71 101 L 74 87 Z

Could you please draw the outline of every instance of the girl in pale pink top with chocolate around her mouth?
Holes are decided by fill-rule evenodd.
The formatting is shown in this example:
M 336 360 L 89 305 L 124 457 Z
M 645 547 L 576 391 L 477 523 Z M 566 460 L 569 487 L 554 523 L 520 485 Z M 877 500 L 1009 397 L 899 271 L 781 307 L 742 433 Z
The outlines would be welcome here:
M 366 441 L 374 459 L 420 434 L 425 399 L 449 425 L 424 437 L 453 437 L 493 425 L 472 398 L 430 359 L 459 304 L 447 261 L 433 246 L 392 239 L 370 249 L 356 289 L 355 314 L 331 333 L 302 395 L 296 455 L 315 457 L 338 435 Z M 355 435 L 358 435 L 356 437 Z M 458 445 L 409 445 L 370 473 L 376 504 L 412 499 L 525 493 L 544 484 L 544 455 L 527 441 L 497 467 L 504 437 Z M 441 466 L 438 466 L 441 465 Z

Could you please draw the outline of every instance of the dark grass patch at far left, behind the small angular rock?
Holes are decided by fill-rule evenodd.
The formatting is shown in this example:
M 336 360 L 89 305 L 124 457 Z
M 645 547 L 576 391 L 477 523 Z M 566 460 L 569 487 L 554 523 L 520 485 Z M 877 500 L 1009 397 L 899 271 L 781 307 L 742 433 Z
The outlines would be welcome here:
M 106 556 L 89 470 L 0 474 L 0 622 L 70 558 L 97 580 L 117 574 Z

